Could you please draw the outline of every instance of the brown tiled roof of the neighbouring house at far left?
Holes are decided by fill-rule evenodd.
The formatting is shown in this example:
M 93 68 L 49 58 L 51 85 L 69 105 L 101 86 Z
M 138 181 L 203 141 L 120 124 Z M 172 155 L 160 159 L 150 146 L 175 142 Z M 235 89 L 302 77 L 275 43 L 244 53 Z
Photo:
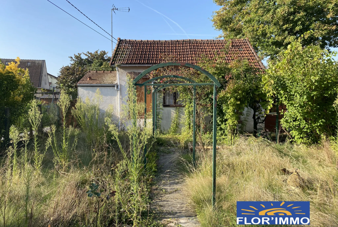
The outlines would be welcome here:
M 2 64 L 8 64 L 10 62 L 16 62 L 15 59 L 0 59 Z M 45 60 L 20 60 L 19 68 L 27 69 L 29 71 L 30 82 L 36 88 L 41 88 L 43 70 L 45 67 Z

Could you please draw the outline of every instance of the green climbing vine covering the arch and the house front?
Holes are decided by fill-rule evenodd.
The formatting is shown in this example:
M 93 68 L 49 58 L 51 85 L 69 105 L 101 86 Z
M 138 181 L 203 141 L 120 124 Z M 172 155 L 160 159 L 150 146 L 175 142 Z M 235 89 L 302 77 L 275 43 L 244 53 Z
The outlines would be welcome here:
M 252 67 L 245 59 L 240 58 L 236 53 L 231 63 L 228 63 L 226 54 L 227 47 L 223 52 L 216 54 L 216 61 L 211 60 L 207 56 L 196 58 L 198 66 L 210 72 L 222 85 L 218 88 L 217 95 L 217 126 L 219 139 L 231 139 L 238 126 L 239 113 L 243 112 L 244 108 L 249 107 L 256 109 L 252 117 L 254 122 L 259 119 L 262 106 L 266 106 L 265 95 L 262 92 L 261 81 L 262 71 Z M 163 62 L 177 61 L 174 55 L 162 55 Z M 196 83 L 207 83 L 210 81 L 206 75 L 199 73 L 196 70 L 186 67 L 166 67 L 154 71 L 151 76 L 161 75 L 180 75 L 190 78 Z M 163 81 L 162 81 L 163 82 Z M 188 87 L 170 87 L 172 91 L 179 92 L 180 101 L 185 106 L 186 116 L 183 132 L 190 130 L 192 119 L 192 89 Z M 197 86 L 196 87 L 196 131 L 199 133 L 197 137 L 202 143 L 202 135 L 210 131 L 208 128 L 209 122 L 204 122 L 204 117 L 211 116 L 213 111 L 213 87 L 212 86 Z M 191 132 L 191 131 L 190 131 Z M 191 135 L 191 133 L 189 133 Z M 225 136 L 224 136 L 225 135 Z

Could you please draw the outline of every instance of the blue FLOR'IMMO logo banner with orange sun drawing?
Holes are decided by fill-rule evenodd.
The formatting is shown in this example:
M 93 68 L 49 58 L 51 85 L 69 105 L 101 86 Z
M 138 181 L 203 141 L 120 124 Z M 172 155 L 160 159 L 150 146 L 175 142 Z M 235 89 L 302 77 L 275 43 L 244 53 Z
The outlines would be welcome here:
M 237 201 L 237 225 L 310 225 L 310 202 Z

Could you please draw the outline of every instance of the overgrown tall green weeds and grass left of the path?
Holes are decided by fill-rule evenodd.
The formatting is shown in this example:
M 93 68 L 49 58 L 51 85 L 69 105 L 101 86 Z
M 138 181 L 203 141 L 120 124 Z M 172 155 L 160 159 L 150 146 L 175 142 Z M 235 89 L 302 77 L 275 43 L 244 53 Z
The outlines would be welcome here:
M 12 146 L 0 168 L 0 226 L 151 225 L 148 194 L 156 171 L 154 140 L 151 122 L 144 127 L 138 118 L 144 106 L 132 101 L 136 94 L 131 82 L 129 86 L 126 132 L 117 130 L 112 112 L 103 115 L 95 100 L 77 105 L 80 129 L 68 126 L 70 100 L 61 93 L 62 124 L 51 122 L 46 136 L 39 127 L 43 114 L 49 113 L 42 114 L 38 101 L 32 101 L 32 134 L 11 128 Z

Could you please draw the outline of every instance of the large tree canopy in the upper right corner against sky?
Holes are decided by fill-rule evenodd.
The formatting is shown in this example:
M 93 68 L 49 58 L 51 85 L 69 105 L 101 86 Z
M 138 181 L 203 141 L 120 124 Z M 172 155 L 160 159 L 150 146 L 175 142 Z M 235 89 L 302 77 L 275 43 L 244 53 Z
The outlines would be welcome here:
M 220 10 L 212 21 L 225 39 L 249 38 L 261 57 L 301 44 L 338 46 L 338 0 L 214 0 Z M 312 31 L 312 32 L 308 32 Z

